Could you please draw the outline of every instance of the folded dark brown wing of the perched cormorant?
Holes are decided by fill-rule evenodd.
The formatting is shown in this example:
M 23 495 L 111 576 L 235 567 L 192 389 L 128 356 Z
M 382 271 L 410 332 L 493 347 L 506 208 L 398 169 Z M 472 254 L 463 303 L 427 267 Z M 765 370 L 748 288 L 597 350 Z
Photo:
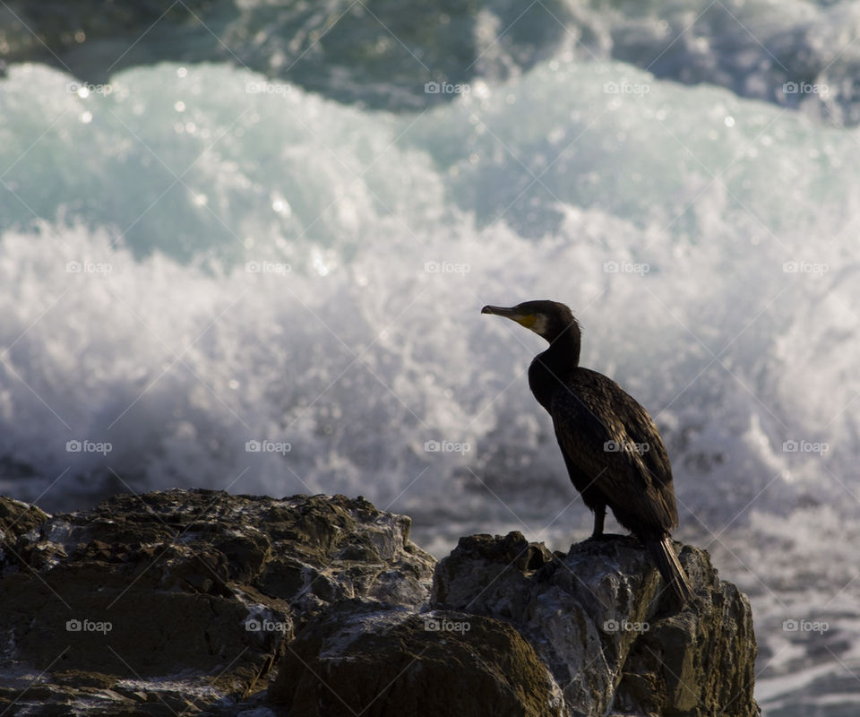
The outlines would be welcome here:
M 550 413 L 565 462 L 594 481 L 616 517 L 623 513 L 650 527 L 675 527 L 666 448 L 648 413 L 618 384 L 589 371 L 587 380 L 555 392 Z

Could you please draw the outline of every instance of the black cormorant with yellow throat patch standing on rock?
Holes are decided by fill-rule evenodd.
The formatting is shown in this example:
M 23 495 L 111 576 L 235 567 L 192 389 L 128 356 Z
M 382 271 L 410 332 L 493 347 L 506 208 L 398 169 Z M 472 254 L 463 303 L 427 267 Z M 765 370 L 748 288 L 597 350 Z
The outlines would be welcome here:
M 556 301 L 484 307 L 549 341 L 529 366 L 529 387 L 553 417 L 571 481 L 594 511 L 592 538 L 603 535 L 606 506 L 648 548 L 678 600 L 692 589 L 672 547 L 678 524 L 672 467 L 648 412 L 611 378 L 580 366 L 580 324 Z

